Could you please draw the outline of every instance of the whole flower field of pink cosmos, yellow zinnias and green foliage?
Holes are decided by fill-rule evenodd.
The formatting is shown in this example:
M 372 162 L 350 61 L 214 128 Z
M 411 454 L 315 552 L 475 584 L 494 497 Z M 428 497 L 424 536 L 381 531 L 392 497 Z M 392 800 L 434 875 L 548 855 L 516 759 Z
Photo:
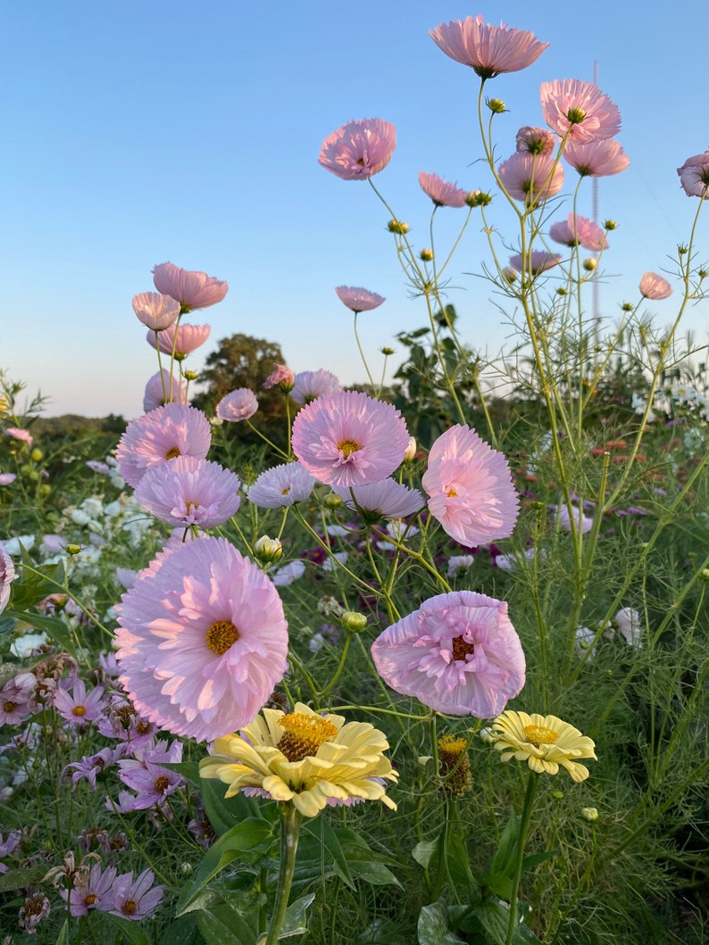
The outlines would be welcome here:
M 342 285 L 367 384 L 243 335 L 200 377 L 192 313 L 228 285 L 163 263 L 132 301 L 142 416 L 59 428 L 2 374 L 7 945 L 706 940 L 706 344 L 682 318 L 709 151 L 678 155 L 665 274 L 599 318 L 617 224 L 577 209 L 631 173 L 620 110 L 544 83 L 503 157 L 497 77 L 545 43 L 479 17 L 431 38 L 479 86 L 480 189 L 422 171 L 414 229 L 393 125 L 319 156 L 386 214 L 421 303 L 403 360 L 370 363 L 357 320 L 386 300 Z M 468 227 L 510 324 L 490 360 L 448 281 Z

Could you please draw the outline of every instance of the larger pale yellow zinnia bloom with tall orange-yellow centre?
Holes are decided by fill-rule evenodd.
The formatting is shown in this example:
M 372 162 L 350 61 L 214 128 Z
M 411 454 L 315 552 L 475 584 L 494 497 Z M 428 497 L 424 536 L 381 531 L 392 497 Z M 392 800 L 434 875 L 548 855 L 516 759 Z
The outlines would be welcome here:
M 387 748 L 384 733 L 369 722 L 345 724 L 342 715 L 320 715 L 298 702 L 292 713 L 264 709 L 251 725 L 217 738 L 199 774 L 228 784 L 227 798 L 248 789 L 291 801 L 307 817 L 328 803 L 359 799 L 396 810 L 386 795 L 385 782 L 398 779 L 384 757 Z

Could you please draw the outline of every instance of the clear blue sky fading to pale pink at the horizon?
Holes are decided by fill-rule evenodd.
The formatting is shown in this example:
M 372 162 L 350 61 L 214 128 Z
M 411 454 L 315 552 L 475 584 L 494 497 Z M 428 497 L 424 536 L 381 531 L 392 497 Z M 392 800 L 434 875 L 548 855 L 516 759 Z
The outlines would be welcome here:
M 635 9 L 617 0 L 5 3 L 0 367 L 29 394 L 41 387 L 50 416 L 140 414 L 157 362 L 130 301 L 152 289 L 152 266 L 169 260 L 230 285 L 225 301 L 190 317 L 209 322 L 212 335 L 186 367 L 199 370 L 218 339 L 243 332 L 280 343 L 297 371 L 364 380 L 334 287 L 386 296 L 360 316 L 375 368 L 378 349 L 396 347 L 393 336 L 423 325 L 425 312 L 408 298 L 387 212 L 368 184 L 320 168 L 320 145 L 352 118 L 393 122 L 397 149 L 376 183 L 417 247 L 428 245 L 420 170 L 491 187 L 476 163 L 478 80 L 428 36 L 478 12 L 550 43 L 530 68 L 487 85 L 510 110 L 497 124 L 500 159 L 520 126 L 544 124 L 542 81 L 593 80 L 596 62 L 599 87 L 620 108 L 631 167 L 601 179 L 598 213 L 619 224 L 599 289 L 601 314 L 613 320 L 620 303 L 637 301 L 642 273 L 670 267 L 686 242 L 697 200 L 683 194 L 676 168 L 709 146 L 696 4 Z M 590 186 L 584 199 L 579 212 L 590 216 Z M 437 215 L 441 249 L 445 221 L 464 213 Z M 704 215 L 699 252 L 709 258 L 707 228 Z M 463 339 L 493 354 L 511 344 L 510 328 L 470 275 L 484 258 L 474 217 L 449 301 Z M 660 323 L 672 320 L 672 300 L 651 304 Z M 702 342 L 707 314 L 702 302 L 685 322 Z

